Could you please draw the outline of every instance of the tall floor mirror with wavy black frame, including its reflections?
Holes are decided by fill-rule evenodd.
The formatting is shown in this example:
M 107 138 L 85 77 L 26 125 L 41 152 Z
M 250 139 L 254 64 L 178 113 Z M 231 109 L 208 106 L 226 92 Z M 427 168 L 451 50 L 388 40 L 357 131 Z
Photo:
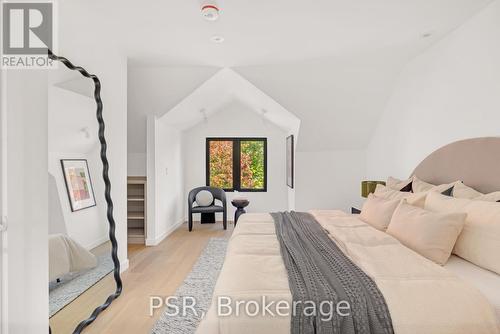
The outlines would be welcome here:
M 49 332 L 81 333 L 122 291 L 101 82 L 49 57 Z

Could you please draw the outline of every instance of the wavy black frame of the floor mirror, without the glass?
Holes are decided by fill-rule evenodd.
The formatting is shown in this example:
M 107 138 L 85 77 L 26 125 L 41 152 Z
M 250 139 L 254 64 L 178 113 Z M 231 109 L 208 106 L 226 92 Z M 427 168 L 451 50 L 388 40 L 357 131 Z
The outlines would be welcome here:
M 80 334 L 88 325 L 90 325 L 97 318 L 99 314 L 101 314 L 102 311 L 107 309 L 108 306 L 111 305 L 111 303 L 121 295 L 123 289 L 122 279 L 120 277 L 120 260 L 118 259 L 118 243 L 116 241 L 116 236 L 115 236 L 116 223 L 113 218 L 113 201 L 111 200 L 111 182 L 109 181 L 109 176 L 108 176 L 109 163 L 108 163 L 108 158 L 106 157 L 107 144 L 106 144 L 106 139 L 104 138 L 105 125 L 104 125 L 104 120 L 102 118 L 101 82 L 99 81 L 99 78 L 96 75 L 90 74 L 83 67 L 73 65 L 68 59 L 64 57 L 56 56 L 55 54 L 52 53 L 51 50 L 48 50 L 48 56 L 51 60 L 62 62 L 70 70 L 78 71 L 84 77 L 92 79 L 92 81 L 94 82 L 94 99 L 97 105 L 96 117 L 97 117 L 97 122 L 99 123 L 98 137 L 99 137 L 99 142 L 101 143 L 101 161 L 103 167 L 102 177 L 104 179 L 104 186 L 105 186 L 104 196 L 106 198 L 106 204 L 108 206 L 107 218 L 109 223 L 109 240 L 111 241 L 111 247 L 112 247 L 111 257 L 115 265 L 113 275 L 116 282 L 116 290 L 115 293 L 113 293 L 106 299 L 104 304 L 97 307 L 92 312 L 89 318 L 83 320 L 78 324 L 78 326 L 73 331 L 73 334 Z M 49 327 L 49 332 L 51 332 L 50 327 Z

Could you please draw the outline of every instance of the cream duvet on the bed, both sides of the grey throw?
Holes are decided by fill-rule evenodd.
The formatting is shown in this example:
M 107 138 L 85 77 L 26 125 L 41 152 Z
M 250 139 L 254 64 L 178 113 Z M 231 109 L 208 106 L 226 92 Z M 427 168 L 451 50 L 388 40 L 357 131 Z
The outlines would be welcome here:
M 311 212 L 383 293 L 396 334 L 498 334 L 492 306 L 472 285 L 340 211 Z M 292 296 L 269 214 L 241 216 L 214 298 L 198 334 L 289 334 L 290 316 L 217 316 L 218 297 L 286 300 Z

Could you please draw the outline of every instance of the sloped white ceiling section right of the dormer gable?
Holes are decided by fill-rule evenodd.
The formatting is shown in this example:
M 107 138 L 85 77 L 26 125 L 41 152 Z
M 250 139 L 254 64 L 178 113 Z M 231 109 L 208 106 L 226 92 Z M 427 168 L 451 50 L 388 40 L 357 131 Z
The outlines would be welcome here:
M 397 61 L 320 59 L 235 70 L 301 120 L 298 151 L 362 149 L 403 66 Z

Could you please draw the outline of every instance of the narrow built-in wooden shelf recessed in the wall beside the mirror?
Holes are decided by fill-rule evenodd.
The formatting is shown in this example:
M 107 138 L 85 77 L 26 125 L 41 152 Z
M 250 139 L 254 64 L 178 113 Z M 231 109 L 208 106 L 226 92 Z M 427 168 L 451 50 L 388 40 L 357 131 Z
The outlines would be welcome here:
M 128 243 L 146 240 L 146 177 L 130 176 L 127 183 Z

